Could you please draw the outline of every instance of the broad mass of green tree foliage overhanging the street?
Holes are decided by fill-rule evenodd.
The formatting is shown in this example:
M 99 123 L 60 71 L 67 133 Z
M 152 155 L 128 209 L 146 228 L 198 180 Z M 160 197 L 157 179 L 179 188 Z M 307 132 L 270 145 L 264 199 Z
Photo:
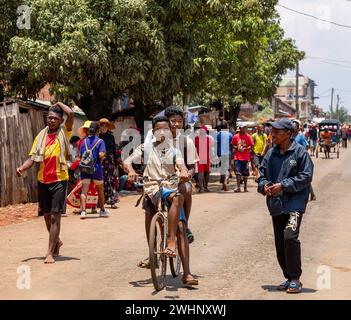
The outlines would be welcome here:
M 32 98 L 50 83 L 58 99 L 73 99 L 92 119 L 110 115 L 124 92 L 144 109 L 170 105 L 175 95 L 255 102 L 303 58 L 284 38 L 277 0 L 21 3 L 31 7 L 31 29 L 0 29 L 2 78 Z

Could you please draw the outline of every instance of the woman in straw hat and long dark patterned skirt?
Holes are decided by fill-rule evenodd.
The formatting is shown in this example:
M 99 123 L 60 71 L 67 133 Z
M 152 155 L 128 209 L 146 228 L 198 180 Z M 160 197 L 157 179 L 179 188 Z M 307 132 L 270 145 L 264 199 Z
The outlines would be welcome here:
M 117 151 L 116 141 L 111 130 L 116 129 L 115 125 L 106 118 L 99 120 L 100 135 L 106 147 L 106 155 L 102 160 L 102 170 L 104 174 L 104 197 L 106 204 L 111 205 L 112 209 L 117 209 L 116 203 L 119 202 L 116 190 L 117 172 Z

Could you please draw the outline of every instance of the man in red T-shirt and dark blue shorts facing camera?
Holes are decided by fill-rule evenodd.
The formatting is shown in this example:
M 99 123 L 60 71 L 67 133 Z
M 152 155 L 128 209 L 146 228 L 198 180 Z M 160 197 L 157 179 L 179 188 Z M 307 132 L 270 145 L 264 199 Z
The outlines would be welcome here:
M 232 140 L 234 161 L 235 161 L 235 175 L 237 188 L 234 192 L 241 192 L 240 183 L 241 178 L 244 181 L 244 192 L 247 192 L 247 178 L 250 175 L 249 162 L 250 162 L 250 150 L 254 143 L 251 136 L 246 131 L 244 124 L 240 125 L 240 131 L 237 133 Z

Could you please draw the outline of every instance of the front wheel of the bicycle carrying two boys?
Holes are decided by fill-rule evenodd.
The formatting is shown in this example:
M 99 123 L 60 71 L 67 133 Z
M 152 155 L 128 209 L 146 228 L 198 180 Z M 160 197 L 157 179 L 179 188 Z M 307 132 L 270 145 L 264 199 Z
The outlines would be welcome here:
M 151 278 L 157 291 L 162 290 L 166 285 L 167 257 L 162 254 L 167 241 L 164 224 L 163 214 L 157 212 L 151 220 L 149 237 Z

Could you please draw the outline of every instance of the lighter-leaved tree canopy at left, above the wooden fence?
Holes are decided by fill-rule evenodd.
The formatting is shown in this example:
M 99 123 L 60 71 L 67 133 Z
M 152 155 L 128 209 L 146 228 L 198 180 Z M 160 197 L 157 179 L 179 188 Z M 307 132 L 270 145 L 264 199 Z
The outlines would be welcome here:
M 45 83 L 97 119 L 114 97 L 162 79 L 162 33 L 147 1 L 29 0 L 32 28 L 11 40 L 12 88 L 35 97 Z

